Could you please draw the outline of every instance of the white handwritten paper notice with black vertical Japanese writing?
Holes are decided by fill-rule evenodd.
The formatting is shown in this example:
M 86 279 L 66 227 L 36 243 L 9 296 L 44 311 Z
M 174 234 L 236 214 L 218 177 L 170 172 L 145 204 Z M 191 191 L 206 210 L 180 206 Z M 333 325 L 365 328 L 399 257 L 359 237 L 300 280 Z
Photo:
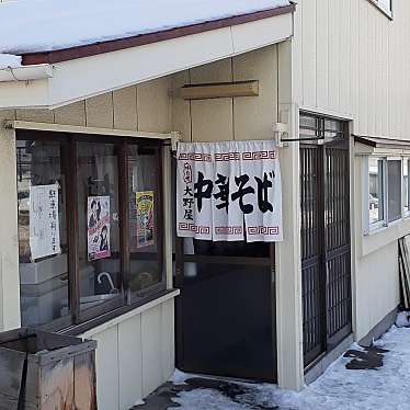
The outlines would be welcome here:
M 33 261 L 60 253 L 58 184 L 30 187 L 30 249 Z

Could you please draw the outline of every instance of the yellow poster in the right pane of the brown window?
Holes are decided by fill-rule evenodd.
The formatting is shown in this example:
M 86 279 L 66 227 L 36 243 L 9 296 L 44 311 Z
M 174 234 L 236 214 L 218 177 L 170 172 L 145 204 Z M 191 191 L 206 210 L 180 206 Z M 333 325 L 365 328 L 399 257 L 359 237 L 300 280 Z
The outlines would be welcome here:
M 153 191 L 136 193 L 137 248 L 145 248 L 155 244 L 153 207 Z

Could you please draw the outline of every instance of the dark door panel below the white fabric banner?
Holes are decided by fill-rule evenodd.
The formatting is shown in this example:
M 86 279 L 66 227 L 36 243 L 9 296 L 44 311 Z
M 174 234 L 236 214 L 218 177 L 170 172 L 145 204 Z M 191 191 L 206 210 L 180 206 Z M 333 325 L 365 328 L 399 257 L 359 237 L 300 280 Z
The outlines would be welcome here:
M 178 239 L 176 367 L 276 381 L 274 246 Z

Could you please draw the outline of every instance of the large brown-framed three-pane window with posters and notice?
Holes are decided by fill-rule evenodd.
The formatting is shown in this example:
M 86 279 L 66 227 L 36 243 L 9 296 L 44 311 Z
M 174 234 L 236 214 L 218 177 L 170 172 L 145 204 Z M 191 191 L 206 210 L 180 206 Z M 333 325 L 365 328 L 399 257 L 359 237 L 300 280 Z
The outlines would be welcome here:
M 160 152 L 119 137 L 18 134 L 23 326 L 62 329 L 166 288 Z

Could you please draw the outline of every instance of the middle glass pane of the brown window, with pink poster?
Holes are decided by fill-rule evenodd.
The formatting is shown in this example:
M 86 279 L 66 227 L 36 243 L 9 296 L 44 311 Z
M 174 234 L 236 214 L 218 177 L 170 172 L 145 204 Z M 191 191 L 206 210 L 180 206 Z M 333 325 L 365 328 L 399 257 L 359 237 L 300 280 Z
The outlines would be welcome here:
M 114 144 L 77 144 L 80 310 L 122 298 L 118 158 Z

